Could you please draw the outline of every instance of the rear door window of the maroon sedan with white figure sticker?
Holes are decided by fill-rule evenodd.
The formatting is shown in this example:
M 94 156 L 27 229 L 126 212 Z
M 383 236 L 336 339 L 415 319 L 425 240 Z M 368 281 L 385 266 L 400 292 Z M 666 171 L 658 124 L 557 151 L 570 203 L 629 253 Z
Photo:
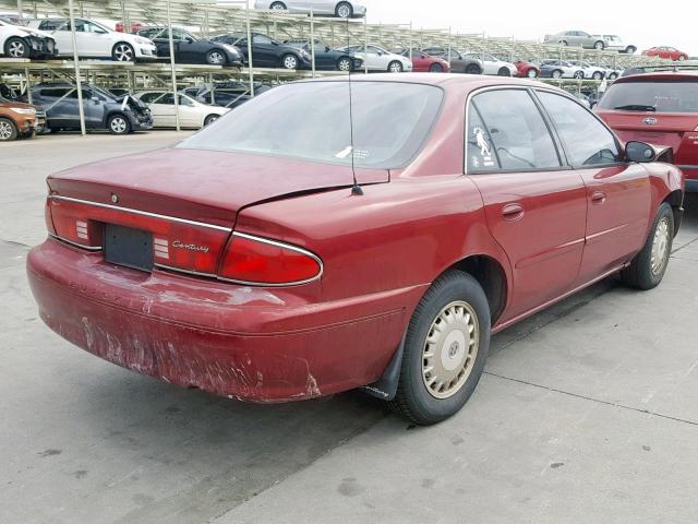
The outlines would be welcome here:
M 471 102 L 481 121 L 469 114 L 468 165 L 478 158 L 486 169 L 488 135 L 493 162 L 504 170 L 547 169 L 561 166 L 557 150 L 533 99 L 524 90 L 490 91 Z M 478 129 L 480 128 L 480 129 Z M 476 166 L 473 166 L 476 167 Z M 477 170 L 477 169 L 476 169 Z M 491 170 L 491 168 L 490 168 Z

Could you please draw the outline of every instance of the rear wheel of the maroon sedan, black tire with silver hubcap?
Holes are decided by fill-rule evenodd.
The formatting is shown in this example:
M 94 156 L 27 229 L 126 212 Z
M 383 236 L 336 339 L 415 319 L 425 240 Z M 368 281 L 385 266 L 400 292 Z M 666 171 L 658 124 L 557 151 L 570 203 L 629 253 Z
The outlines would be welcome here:
M 482 287 L 467 273 L 445 273 L 429 288 L 407 327 L 390 408 L 421 426 L 450 417 L 478 385 L 489 347 L 490 307 Z

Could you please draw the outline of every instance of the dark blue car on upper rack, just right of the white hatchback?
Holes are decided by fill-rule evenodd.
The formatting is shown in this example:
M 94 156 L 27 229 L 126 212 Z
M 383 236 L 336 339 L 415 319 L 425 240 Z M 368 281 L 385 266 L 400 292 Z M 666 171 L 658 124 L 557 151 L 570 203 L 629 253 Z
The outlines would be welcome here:
M 137 33 L 153 40 L 157 56 L 169 58 L 170 33 L 167 27 L 145 27 Z M 208 63 L 212 66 L 242 66 L 240 49 L 220 41 L 200 38 L 190 32 L 172 27 L 174 61 L 178 63 Z

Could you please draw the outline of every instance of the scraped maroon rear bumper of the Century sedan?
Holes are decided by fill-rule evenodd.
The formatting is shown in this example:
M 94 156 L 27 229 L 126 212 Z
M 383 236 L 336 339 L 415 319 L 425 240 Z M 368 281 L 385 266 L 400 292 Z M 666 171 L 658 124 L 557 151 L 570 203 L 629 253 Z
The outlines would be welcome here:
M 27 274 L 41 319 L 63 338 L 139 373 L 253 402 L 377 380 L 425 290 L 310 302 L 298 291 L 117 267 L 53 239 L 32 250 Z

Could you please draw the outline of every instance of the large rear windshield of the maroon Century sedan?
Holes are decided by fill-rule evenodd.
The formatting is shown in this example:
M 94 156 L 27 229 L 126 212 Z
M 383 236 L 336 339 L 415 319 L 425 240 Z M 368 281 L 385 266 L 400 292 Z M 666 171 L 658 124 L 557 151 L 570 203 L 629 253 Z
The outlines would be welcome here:
M 432 85 L 305 82 L 275 87 L 204 128 L 179 147 L 284 156 L 390 169 L 409 163 L 436 120 Z M 352 144 L 353 123 L 353 150 Z

